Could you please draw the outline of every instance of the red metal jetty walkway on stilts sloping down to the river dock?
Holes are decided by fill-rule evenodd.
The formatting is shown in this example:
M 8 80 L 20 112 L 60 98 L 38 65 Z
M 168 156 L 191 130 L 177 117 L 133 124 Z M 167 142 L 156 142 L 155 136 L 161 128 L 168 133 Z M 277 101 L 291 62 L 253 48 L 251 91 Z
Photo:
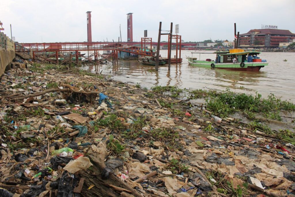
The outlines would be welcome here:
M 63 43 L 16 43 L 15 52 L 24 59 L 39 59 L 43 62 L 63 64 L 71 62 L 78 64 L 82 62 L 99 63 L 101 59 L 106 59 L 114 63 L 118 59 L 118 52 L 155 56 L 155 50 L 125 44 L 128 42 L 63 42 Z M 91 52 L 88 56 L 81 54 L 81 51 Z M 99 51 L 103 51 L 99 53 Z M 104 54 L 107 52 L 107 54 Z M 94 57 L 94 60 L 93 60 Z M 75 60 L 72 62 L 72 60 Z

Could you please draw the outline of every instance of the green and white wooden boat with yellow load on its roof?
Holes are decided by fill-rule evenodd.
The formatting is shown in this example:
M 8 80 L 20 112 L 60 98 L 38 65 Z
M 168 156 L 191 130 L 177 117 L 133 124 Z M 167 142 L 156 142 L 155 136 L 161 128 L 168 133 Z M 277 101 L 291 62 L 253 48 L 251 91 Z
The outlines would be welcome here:
M 192 55 L 195 52 L 192 52 Z M 193 66 L 204 66 L 219 69 L 231 69 L 231 70 L 247 70 L 247 71 L 259 71 L 260 68 L 267 66 L 268 63 L 265 59 L 260 59 L 258 54 L 260 51 L 243 49 L 230 49 L 229 51 L 216 51 L 216 59 L 197 60 L 197 58 L 187 57 L 187 61 Z M 198 53 L 201 54 L 201 53 Z M 237 58 L 237 61 L 233 63 L 233 60 Z

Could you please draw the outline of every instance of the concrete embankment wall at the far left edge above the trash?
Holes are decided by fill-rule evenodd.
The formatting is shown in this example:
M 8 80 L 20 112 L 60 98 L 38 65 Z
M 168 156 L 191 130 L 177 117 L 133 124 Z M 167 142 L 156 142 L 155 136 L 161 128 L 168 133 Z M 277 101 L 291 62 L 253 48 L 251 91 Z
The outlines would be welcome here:
M 14 41 L 3 32 L 0 33 L 0 76 L 3 75 L 6 66 L 15 58 Z M 10 66 L 10 65 L 9 65 Z

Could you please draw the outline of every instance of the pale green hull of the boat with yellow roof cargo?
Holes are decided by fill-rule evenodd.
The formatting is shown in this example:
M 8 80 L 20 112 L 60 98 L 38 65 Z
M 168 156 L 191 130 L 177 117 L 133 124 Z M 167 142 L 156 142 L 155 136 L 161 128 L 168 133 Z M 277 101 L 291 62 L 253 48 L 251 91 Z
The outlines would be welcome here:
M 214 64 L 213 68 L 218 69 L 229 69 L 229 70 L 247 70 L 247 71 L 259 71 L 260 68 L 267 66 L 268 63 L 266 62 L 244 62 L 245 66 L 241 67 L 240 63 L 215 63 L 215 62 L 208 62 L 208 61 L 195 61 L 190 62 L 192 66 L 201 66 L 201 67 L 212 67 L 211 64 Z

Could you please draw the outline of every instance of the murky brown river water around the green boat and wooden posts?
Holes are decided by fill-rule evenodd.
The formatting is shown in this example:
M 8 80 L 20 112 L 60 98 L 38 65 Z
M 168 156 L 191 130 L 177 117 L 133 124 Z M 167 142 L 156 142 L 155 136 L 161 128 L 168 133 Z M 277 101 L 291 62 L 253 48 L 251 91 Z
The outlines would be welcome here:
M 189 51 L 182 50 L 182 64 L 171 64 L 159 67 L 158 72 L 150 71 L 152 66 L 142 65 L 137 60 L 119 60 L 118 65 L 101 64 L 99 70 L 102 74 L 111 75 L 113 79 L 128 83 L 139 83 L 141 87 L 150 88 L 155 85 L 176 85 L 186 89 L 214 89 L 225 90 L 255 95 L 260 93 L 267 97 L 270 93 L 281 97 L 283 100 L 295 102 L 295 53 L 291 52 L 262 52 L 260 59 L 266 59 L 268 66 L 258 72 L 212 69 L 191 66 L 186 61 L 186 56 L 191 52 L 213 53 L 214 51 Z M 161 50 L 162 57 L 167 56 L 167 50 Z M 172 57 L 176 51 L 172 51 Z M 199 54 L 194 54 L 199 59 Z M 201 54 L 201 60 L 215 59 L 216 54 Z M 287 62 L 283 60 L 287 59 Z M 94 66 L 84 69 L 94 72 Z M 100 72 L 99 71 L 99 72 Z M 120 71 L 126 76 L 117 75 Z

